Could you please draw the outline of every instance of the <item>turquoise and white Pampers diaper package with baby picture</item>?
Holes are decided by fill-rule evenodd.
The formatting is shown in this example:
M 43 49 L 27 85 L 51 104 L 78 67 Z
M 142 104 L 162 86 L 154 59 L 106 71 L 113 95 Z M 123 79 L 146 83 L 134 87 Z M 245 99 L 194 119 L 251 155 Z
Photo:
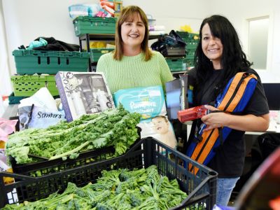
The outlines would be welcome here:
M 176 148 L 173 127 L 167 119 L 165 97 L 162 86 L 134 87 L 118 90 L 113 94 L 118 106 L 123 104 L 130 112 L 141 114 L 141 138 L 153 137 L 172 148 Z

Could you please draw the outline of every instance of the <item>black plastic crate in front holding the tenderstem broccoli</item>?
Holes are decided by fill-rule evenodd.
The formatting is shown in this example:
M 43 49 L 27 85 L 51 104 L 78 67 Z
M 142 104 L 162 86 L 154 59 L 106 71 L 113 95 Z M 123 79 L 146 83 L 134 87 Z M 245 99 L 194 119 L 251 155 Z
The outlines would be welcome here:
M 195 166 L 200 170 L 192 174 L 186 166 Z M 117 158 L 111 158 L 100 162 L 92 162 L 85 166 L 67 169 L 41 177 L 30 177 L 8 172 L 0 173 L 0 208 L 5 204 L 17 202 L 35 201 L 48 197 L 51 193 L 62 192 L 68 182 L 76 183 L 78 187 L 87 183 L 94 183 L 101 176 L 102 170 L 119 168 L 147 168 L 151 165 L 158 167 L 161 175 L 169 179 L 177 179 L 181 190 L 188 194 L 186 200 L 172 209 L 212 209 L 216 202 L 216 177 L 213 170 L 191 160 L 186 155 L 174 151 L 174 149 L 161 144 L 159 141 L 148 137 L 137 142 L 130 151 Z M 5 185 L 3 176 L 17 179 L 15 183 Z M 13 191 L 13 192 L 12 192 Z M 12 192 L 12 193 L 11 193 Z M 10 195 L 8 195 L 10 194 Z M 9 197 L 10 196 L 10 197 Z

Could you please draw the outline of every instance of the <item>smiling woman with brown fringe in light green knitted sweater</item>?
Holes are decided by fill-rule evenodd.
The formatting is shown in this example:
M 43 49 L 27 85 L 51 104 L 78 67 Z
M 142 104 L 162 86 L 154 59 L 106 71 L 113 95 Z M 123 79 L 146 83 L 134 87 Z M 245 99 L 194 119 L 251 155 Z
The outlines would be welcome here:
M 148 48 L 148 19 L 138 6 L 123 9 L 116 27 L 116 50 L 100 57 L 97 72 L 104 72 L 112 93 L 132 87 L 162 85 L 173 80 L 160 52 Z

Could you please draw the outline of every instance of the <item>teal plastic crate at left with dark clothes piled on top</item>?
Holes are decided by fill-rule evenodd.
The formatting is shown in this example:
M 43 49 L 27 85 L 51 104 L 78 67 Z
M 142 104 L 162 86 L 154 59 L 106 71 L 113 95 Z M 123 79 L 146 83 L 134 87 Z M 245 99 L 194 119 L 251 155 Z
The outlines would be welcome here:
M 18 74 L 55 74 L 57 71 L 87 71 L 90 53 L 14 50 L 13 56 Z

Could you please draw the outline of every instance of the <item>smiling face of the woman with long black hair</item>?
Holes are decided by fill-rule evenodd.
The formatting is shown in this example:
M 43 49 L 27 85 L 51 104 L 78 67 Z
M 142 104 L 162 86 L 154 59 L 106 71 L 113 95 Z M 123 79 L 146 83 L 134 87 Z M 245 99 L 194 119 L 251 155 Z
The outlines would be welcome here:
M 211 34 L 208 23 L 202 27 L 202 51 L 206 57 L 211 59 L 214 69 L 222 68 L 223 43 L 220 38 L 214 37 Z

